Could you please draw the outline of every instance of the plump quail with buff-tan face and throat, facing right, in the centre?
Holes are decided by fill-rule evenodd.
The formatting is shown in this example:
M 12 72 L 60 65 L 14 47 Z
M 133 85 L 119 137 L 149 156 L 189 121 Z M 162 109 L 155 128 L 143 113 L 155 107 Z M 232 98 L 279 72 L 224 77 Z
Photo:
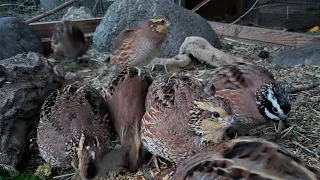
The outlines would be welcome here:
M 225 140 L 233 122 L 228 102 L 204 92 L 197 79 L 164 77 L 149 87 L 141 140 L 154 156 L 178 164 L 204 146 Z

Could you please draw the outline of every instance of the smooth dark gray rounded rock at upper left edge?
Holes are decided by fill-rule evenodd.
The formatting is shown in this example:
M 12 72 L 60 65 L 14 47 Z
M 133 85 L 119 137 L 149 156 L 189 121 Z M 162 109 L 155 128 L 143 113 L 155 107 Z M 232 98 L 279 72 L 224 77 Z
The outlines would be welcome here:
M 0 18 L 0 32 L 0 60 L 29 51 L 42 54 L 41 40 L 21 19 Z

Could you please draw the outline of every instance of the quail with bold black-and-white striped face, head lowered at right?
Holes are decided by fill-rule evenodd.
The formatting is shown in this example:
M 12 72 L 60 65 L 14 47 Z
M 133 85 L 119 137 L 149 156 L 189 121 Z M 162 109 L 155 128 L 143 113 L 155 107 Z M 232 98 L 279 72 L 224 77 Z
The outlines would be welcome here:
M 205 75 L 204 81 L 216 88 L 216 96 L 229 100 L 241 128 L 252 128 L 269 120 L 285 122 L 291 110 L 286 86 L 276 82 L 272 73 L 261 66 L 225 65 Z

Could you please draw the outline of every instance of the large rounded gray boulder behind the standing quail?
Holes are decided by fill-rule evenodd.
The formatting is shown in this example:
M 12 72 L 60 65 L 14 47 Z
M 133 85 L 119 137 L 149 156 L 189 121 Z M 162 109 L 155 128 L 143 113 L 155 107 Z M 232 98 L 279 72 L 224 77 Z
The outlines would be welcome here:
M 217 35 L 205 19 L 174 4 L 172 0 L 115 1 L 96 28 L 93 35 L 94 47 L 102 52 L 112 52 L 113 40 L 123 29 L 160 14 L 167 14 L 171 23 L 162 57 L 177 55 L 180 45 L 188 36 L 203 37 L 214 47 L 221 48 Z

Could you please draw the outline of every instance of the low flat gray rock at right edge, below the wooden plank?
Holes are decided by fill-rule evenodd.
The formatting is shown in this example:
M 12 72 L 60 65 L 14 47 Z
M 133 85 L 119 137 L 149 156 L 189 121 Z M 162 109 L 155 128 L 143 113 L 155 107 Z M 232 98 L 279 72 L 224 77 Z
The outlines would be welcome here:
M 275 54 L 271 62 L 277 65 L 320 65 L 320 42 L 310 43 L 296 49 Z

